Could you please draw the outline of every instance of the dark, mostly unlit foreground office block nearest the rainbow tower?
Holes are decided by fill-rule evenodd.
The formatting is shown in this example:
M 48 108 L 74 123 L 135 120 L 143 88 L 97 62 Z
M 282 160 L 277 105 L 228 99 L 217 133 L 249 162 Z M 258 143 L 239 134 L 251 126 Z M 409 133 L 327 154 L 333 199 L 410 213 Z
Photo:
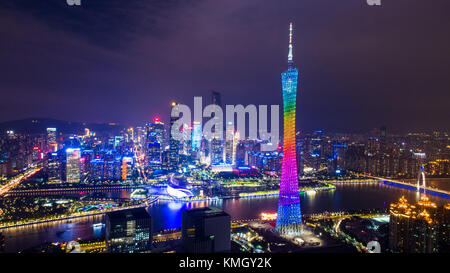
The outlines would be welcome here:
M 215 207 L 184 210 L 181 240 L 188 253 L 228 252 L 231 216 Z

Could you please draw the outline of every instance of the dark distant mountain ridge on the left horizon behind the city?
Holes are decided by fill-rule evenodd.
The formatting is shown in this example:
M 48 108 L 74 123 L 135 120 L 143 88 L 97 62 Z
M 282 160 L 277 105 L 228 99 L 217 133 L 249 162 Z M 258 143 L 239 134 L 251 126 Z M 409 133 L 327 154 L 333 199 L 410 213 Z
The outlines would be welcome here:
M 63 134 L 80 134 L 84 132 L 85 128 L 97 132 L 119 132 L 123 129 L 118 123 L 84 123 L 51 118 L 27 118 L 1 122 L 0 134 L 5 134 L 7 130 L 13 130 L 21 134 L 39 134 L 46 133 L 47 128 L 50 127 L 56 128 Z

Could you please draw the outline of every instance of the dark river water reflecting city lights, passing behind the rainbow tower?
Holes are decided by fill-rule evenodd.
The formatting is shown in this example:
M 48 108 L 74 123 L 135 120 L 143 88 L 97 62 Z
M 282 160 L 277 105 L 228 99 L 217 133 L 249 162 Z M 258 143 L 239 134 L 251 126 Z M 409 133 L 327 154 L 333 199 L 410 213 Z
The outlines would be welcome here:
M 121 197 L 126 197 L 130 192 L 123 191 L 117 194 Z M 338 184 L 336 185 L 336 190 L 333 191 L 318 191 L 314 194 L 301 193 L 300 202 L 302 213 L 305 214 L 351 209 L 387 209 L 391 202 L 397 201 L 402 195 L 411 202 L 419 198 L 415 191 L 379 183 L 365 183 Z M 430 196 L 430 199 L 438 203 L 449 202 L 448 199 L 435 196 Z M 216 206 L 229 213 L 233 220 L 255 219 L 259 217 L 261 212 L 276 212 L 277 203 L 277 196 L 192 203 L 159 201 L 148 209 L 153 217 L 153 230 L 159 231 L 181 227 L 181 215 L 185 209 Z M 1 230 L 0 232 L 6 236 L 5 251 L 17 252 L 20 249 L 26 249 L 44 242 L 104 237 L 105 226 L 94 226 L 94 224 L 103 222 L 103 216 L 95 216 L 39 226 Z

